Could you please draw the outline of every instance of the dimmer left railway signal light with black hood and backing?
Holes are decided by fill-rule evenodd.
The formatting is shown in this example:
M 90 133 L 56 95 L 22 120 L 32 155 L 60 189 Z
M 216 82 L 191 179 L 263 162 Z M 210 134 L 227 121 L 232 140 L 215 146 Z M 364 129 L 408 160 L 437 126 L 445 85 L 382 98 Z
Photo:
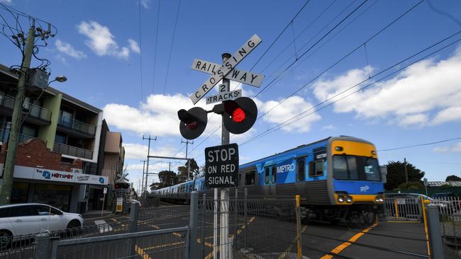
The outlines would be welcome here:
M 196 139 L 206 128 L 208 117 L 206 110 L 194 107 L 189 110 L 178 110 L 179 132 L 184 139 Z

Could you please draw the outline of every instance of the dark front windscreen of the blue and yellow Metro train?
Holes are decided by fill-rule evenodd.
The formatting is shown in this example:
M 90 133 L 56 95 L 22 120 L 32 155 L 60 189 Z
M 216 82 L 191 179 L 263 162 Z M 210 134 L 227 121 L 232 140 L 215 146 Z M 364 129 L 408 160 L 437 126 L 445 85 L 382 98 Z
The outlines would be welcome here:
M 365 156 L 333 156 L 333 175 L 338 180 L 381 180 L 378 160 Z

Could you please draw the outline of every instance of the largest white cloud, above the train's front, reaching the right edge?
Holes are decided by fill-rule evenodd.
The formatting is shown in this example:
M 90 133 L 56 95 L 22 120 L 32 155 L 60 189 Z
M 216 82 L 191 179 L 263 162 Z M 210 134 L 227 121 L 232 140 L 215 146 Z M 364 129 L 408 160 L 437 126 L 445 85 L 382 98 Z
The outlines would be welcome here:
M 355 112 L 357 117 L 389 120 L 401 126 L 434 125 L 461 120 L 460 69 L 461 48 L 458 48 L 447 59 L 423 60 L 404 69 L 392 79 L 338 101 L 334 104 L 334 111 Z M 318 100 L 325 100 L 367 77 L 367 67 L 351 69 L 333 79 L 321 79 L 313 85 L 313 93 Z M 356 90 L 353 88 L 346 91 L 333 100 Z M 438 114 L 431 118 L 430 113 L 434 112 Z

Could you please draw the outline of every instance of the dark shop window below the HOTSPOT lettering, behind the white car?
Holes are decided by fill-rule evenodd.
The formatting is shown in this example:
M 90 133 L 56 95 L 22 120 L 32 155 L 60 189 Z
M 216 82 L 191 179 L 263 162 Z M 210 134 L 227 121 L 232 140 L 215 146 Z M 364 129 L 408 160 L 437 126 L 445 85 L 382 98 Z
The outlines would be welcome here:
M 43 203 L 69 212 L 72 186 L 35 184 L 33 202 Z

